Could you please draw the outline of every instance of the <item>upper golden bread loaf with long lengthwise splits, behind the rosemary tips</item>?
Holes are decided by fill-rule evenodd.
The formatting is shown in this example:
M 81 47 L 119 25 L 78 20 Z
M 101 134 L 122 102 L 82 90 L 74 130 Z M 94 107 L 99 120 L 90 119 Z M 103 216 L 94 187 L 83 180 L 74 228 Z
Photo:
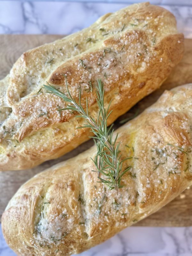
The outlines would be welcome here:
M 46 81 L 66 92 L 67 75 L 70 93 L 78 97 L 81 87 L 82 104 L 87 97 L 95 117 L 101 78 L 106 104 L 113 99 L 110 124 L 157 89 L 182 54 L 174 16 L 149 3 L 106 14 L 89 28 L 24 53 L 0 81 L 0 170 L 31 168 L 88 140 L 88 129 L 76 129 L 82 120 L 75 113 L 57 112 L 66 103 L 39 91 Z

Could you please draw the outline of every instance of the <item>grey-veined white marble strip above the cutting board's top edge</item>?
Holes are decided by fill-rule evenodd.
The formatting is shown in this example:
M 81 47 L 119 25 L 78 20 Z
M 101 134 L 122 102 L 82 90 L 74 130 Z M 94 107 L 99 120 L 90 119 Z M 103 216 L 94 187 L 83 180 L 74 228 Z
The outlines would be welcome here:
M 138 1 L 136 1 L 138 2 Z M 192 38 L 192 1 L 152 1 L 171 11 L 178 29 Z M 185 1 L 184 1 L 185 2 Z M 173 3 L 177 4 L 174 5 Z M 0 1 L 0 34 L 71 34 L 91 25 L 101 15 L 129 4 L 93 2 Z

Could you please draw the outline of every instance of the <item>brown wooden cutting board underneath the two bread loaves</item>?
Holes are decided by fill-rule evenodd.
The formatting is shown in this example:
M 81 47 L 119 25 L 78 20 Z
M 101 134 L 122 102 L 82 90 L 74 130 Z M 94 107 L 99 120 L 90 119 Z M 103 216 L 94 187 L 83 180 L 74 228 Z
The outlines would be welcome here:
M 0 35 L 0 79 L 6 76 L 17 58 L 30 48 L 52 42 L 61 36 L 57 35 Z M 115 128 L 119 127 L 119 121 L 134 115 L 136 110 L 142 112 L 154 103 L 165 89 L 171 89 L 181 84 L 192 83 L 192 39 L 185 40 L 185 54 L 172 74 L 164 82 L 162 87 L 148 97 L 141 100 L 129 112 L 121 116 L 115 122 Z M 0 172 L 0 217 L 17 189 L 36 173 L 79 154 L 92 146 L 92 140 L 80 145 L 78 148 L 59 159 L 51 160 L 33 169 L 24 171 Z M 186 189 L 171 203 L 140 221 L 137 226 L 192 226 L 192 188 Z

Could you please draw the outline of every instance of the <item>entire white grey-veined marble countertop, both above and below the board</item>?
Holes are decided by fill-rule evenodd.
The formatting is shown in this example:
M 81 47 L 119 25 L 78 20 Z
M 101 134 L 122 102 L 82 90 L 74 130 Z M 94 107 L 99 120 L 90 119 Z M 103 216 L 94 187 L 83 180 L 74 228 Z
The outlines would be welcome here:
M 127 0 L 0 1 L 0 34 L 71 34 L 106 12 L 127 6 Z M 192 0 L 152 0 L 171 11 L 178 29 L 192 38 Z M 0 42 L 1 43 L 1 42 Z M 15 256 L 0 229 L 0 256 Z M 82 256 L 190 256 L 192 227 L 130 227 Z M 28 256 L 28 255 L 26 255 Z

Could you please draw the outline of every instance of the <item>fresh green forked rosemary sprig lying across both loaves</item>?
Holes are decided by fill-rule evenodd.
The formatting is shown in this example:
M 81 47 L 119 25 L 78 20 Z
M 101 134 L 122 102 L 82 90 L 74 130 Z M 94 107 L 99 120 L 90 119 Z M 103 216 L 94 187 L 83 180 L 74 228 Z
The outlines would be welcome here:
M 82 65 L 83 66 L 83 65 Z M 63 100 L 65 100 L 68 105 L 66 108 L 58 109 L 57 111 L 62 110 L 70 110 L 72 112 L 77 112 L 79 115 L 76 117 L 81 117 L 86 120 L 86 124 L 78 127 L 78 128 L 90 128 L 94 134 L 91 138 L 96 139 L 96 145 L 97 145 L 97 155 L 95 156 L 93 162 L 96 166 L 97 172 L 98 172 L 98 182 L 102 182 L 105 185 L 109 187 L 109 189 L 118 189 L 122 188 L 123 185 L 121 184 L 121 178 L 122 176 L 129 170 L 129 168 L 126 168 L 124 171 L 123 169 L 123 162 L 126 159 L 121 160 L 120 155 L 120 142 L 116 143 L 117 136 L 113 140 L 113 130 L 111 131 L 112 126 L 107 129 L 107 120 L 109 115 L 112 111 L 109 112 L 109 107 L 111 104 L 111 101 L 108 105 L 108 108 L 104 107 L 104 87 L 103 83 L 100 79 L 98 79 L 98 86 L 97 86 L 97 104 L 99 107 L 99 113 L 98 117 L 95 120 L 92 116 L 89 115 L 88 111 L 88 100 L 86 98 L 86 108 L 84 110 L 82 104 L 81 104 L 81 89 L 79 92 L 79 103 L 76 102 L 75 99 L 72 98 L 69 90 L 68 90 L 68 84 L 67 84 L 67 77 L 65 77 L 66 82 L 66 88 L 67 93 L 64 94 L 60 92 L 58 89 L 56 89 L 54 86 L 48 84 L 44 84 L 45 92 L 53 93 L 59 97 L 61 97 Z M 109 134 L 110 132 L 110 134 Z M 95 172 L 95 171 L 93 171 Z M 100 174 L 103 174 L 102 178 L 100 177 Z

